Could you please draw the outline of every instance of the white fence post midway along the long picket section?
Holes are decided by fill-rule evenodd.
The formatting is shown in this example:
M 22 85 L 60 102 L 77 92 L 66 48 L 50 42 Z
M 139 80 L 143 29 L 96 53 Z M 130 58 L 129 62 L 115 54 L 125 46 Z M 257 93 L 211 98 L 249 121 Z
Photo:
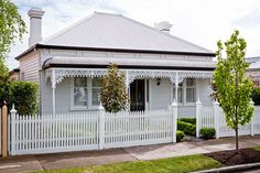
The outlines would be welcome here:
M 99 116 L 99 149 L 104 149 L 105 145 L 105 108 L 101 102 L 98 106 L 98 116 Z

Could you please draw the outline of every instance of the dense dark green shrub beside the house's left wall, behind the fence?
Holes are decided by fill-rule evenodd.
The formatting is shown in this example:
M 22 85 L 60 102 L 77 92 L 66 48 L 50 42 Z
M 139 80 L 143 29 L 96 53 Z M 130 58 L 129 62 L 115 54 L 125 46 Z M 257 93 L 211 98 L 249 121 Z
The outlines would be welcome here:
M 20 115 L 37 112 L 37 85 L 32 82 L 12 82 L 12 102 Z

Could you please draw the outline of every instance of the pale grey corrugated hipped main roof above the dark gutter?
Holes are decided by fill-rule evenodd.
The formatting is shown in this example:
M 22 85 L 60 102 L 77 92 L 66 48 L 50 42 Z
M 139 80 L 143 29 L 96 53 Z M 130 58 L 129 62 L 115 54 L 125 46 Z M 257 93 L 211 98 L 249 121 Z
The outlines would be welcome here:
M 42 44 L 213 53 L 123 15 L 99 12 L 44 40 Z

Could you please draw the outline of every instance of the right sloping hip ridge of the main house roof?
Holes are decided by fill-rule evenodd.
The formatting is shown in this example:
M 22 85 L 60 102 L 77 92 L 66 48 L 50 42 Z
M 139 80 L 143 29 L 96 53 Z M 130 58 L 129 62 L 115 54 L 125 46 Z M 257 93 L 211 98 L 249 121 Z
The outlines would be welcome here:
M 203 46 L 199 46 L 199 45 L 197 45 L 197 44 L 194 44 L 194 43 L 192 43 L 192 42 L 188 42 L 188 41 L 186 41 L 186 40 L 183 40 L 183 39 L 181 39 L 181 37 L 177 37 L 177 36 L 175 36 L 175 35 L 172 35 L 172 34 L 170 34 L 170 33 L 165 33 L 165 32 L 159 31 L 159 30 L 156 30 L 155 28 L 152 28 L 152 26 L 150 26 L 150 25 L 147 25 L 147 24 L 144 24 L 144 23 L 141 23 L 141 22 L 139 22 L 139 21 L 136 21 L 136 20 L 133 20 L 133 19 L 131 19 L 131 18 L 128 18 L 128 17 L 124 17 L 124 15 L 121 15 L 121 17 L 124 18 L 124 19 L 127 19 L 127 20 L 130 20 L 130 21 L 132 21 L 132 22 L 134 22 L 134 23 L 137 23 L 137 24 L 140 24 L 140 25 L 143 25 L 143 26 L 145 26 L 145 28 L 152 29 L 153 31 L 156 31 L 156 32 L 159 32 L 159 33 L 161 33 L 161 34 L 164 34 L 164 35 L 166 35 L 166 36 L 170 36 L 170 37 L 176 39 L 176 40 L 178 40 L 178 41 L 181 41 L 181 42 L 184 42 L 184 43 L 191 44 L 191 45 L 193 45 L 193 46 L 203 48 L 204 51 L 214 53 L 213 51 L 207 50 L 207 48 L 205 48 L 205 47 L 203 47 Z

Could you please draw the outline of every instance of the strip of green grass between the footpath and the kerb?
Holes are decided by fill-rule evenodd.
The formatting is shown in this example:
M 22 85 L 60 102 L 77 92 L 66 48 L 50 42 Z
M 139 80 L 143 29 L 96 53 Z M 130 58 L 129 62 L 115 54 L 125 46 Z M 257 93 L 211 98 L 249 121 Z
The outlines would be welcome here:
M 152 161 L 123 162 L 116 164 L 39 171 L 34 173 L 184 173 L 219 167 L 221 164 L 202 154 L 160 159 Z

